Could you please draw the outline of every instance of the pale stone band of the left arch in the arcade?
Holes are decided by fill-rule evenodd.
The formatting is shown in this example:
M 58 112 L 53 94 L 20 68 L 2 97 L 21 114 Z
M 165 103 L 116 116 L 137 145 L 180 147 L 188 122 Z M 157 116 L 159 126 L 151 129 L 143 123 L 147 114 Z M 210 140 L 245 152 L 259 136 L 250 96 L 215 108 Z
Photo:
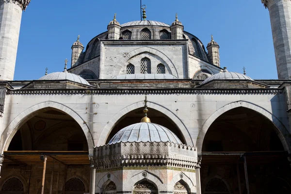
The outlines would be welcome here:
M 83 130 L 86 139 L 87 144 L 89 148 L 89 154 L 93 154 L 93 147 L 94 147 L 94 141 L 93 141 L 93 135 L 88 128 L 86 122 L 81 118 L 81 116 L 74 112 L 72 109 L 68 108 L 67 106 L 53 102 L 53 101 L 46 101 L 39 104 L 36 104 L 22 113 L 18 114 L 8 125 L 6 129 L 4 129 L 1 139 L 0 139 L 0 151 L 3 153 L 3 151 L 6 151 L 8 149 L 8 146 L 13 138 L 13 136 L 16 134 L 17 130 L 21 127 L 23 123 L 31 119 L 33 116 L 35 116 L 39 111 L 43 110 L 51 110 L 51 109 L 57 109 L 59 111 L 62 111 L 68 115 L 70 115 L 81 127 Z

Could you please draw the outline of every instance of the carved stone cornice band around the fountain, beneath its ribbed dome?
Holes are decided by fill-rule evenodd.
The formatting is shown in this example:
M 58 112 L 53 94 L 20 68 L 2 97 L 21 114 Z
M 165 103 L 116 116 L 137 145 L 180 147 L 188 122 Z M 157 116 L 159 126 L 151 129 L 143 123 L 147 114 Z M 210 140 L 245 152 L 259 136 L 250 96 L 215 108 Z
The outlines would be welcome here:
M 194 169 L 196 147 L 170 142 L 126 142 L 94 149 L 96 169 L 123 166 L 172 166 Z

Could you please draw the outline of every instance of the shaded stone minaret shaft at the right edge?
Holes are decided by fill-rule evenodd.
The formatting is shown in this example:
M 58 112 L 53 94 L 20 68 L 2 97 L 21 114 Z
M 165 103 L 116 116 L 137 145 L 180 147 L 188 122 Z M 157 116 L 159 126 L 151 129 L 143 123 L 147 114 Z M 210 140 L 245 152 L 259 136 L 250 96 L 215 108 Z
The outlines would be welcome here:
M 261 0 L 269 9 L 277 73 L 279 79 L 291 76 L 291 0 Z

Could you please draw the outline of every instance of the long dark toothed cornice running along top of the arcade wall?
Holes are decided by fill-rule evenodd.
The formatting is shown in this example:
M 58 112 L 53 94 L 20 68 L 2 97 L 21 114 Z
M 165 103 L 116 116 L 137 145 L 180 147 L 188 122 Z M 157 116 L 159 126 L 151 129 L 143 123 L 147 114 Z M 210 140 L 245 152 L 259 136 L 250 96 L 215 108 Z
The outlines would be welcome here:
M 99 89 L 17 89 L 7 90 L 7 95 L 78 95 L 78 94 L 281 94 L 283 88 L 242 88 L 242 89 L 215 89 L 215 88 L 157 88 L 157 89 L 144 89 L 144 88 L 99 88 Z

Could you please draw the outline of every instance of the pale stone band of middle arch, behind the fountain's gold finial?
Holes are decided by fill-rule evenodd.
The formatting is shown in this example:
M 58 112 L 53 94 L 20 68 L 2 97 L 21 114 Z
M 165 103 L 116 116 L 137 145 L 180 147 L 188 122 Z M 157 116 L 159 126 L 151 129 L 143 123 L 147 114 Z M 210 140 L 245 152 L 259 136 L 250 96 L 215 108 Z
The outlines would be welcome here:
M 100 138 L 98 140 L 97 146 L 103 146 L 106 143 L 106 140 L 107 140 L 110 132 L 112 131 L 114 126 L 118 123 L 118 121 L 123 116 L 125 116 L 130 111 L 133 111 L 133 110 L 141 108 L 141 107 L 144 107 L 144 101 L 139 101 L 139 102 L 133 103 L 133 104 L 123 108 L 118 113 L 116 113 L 112 117 L 112 119 L 107 123 L 107 125 L 104 127 L 102 132 L 100 133 Z M 181 119 L 178 118 L 178 116 L 175 113 L 171 112 L 169 109 L 163 107 L 162 105 L 159 105 L 157 103 L 150 102 L 150 101 L 148 101 L 147 107 L 155 109 L 155 110 L 160 111 L 161 113 L 167 115 L 167 117 L 169 117 L 173 121 L 173 123 L 176 124 L 179 131 L 184 136 L 186 144 L 188 146 L 194 146 L 190 132 L 188 131 L 188 129 L 186 128 L 184 123 L 181 121 Z

